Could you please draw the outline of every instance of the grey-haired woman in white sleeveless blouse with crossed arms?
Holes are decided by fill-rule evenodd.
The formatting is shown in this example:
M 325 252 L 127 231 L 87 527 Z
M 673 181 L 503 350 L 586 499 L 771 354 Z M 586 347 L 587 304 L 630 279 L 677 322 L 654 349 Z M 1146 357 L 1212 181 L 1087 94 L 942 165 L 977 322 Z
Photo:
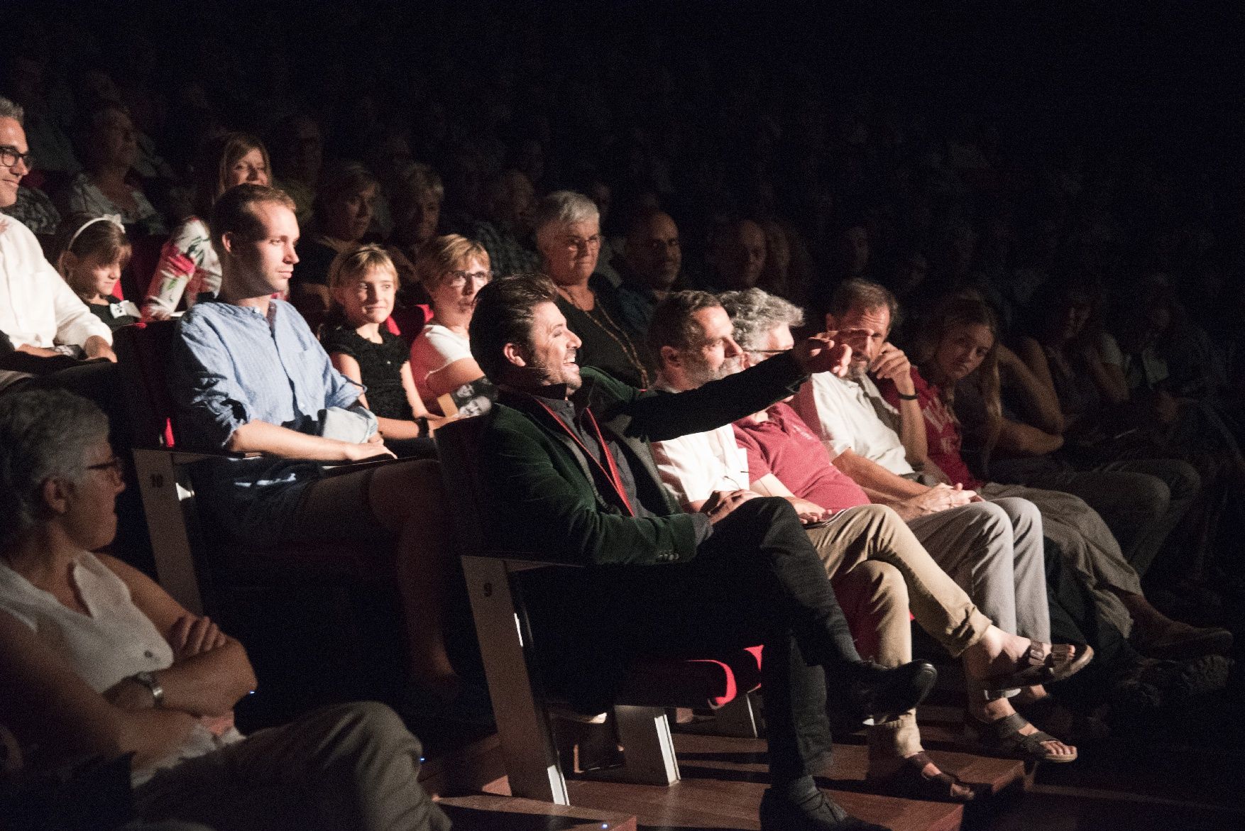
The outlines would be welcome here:
M 93 404 L 0 398 L 0 718 L 27 768 L 133 754 L 144 820 L 230 829 L 448 829 L 420 789 L 420 744 L 381 704 L 317 710 L 243 738 L 247 652 L 125 562 L 121 462 Z

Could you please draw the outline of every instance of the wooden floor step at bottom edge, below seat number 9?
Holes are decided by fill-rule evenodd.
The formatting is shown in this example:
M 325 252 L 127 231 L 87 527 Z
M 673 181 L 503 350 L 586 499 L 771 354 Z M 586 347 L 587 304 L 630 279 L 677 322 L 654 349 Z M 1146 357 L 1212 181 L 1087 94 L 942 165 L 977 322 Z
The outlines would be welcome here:
M 552 805 L 514 796 L 474 794 L 438 802 L 454 831 L 636 831 L 635 817 L 619 811 Z

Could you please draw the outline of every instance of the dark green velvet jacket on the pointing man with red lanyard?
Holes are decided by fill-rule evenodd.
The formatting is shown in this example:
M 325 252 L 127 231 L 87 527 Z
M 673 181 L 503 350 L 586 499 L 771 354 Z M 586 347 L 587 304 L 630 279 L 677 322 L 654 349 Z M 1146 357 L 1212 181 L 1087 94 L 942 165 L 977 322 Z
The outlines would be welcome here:
M 489 547 L 585 566 L 691 560 L 706 518 L 670 500 L 649 443 L 730 424 L 791 396 L 807 378 L 791 355 L 684 393 L 640 391 L 591 367 L 581 372 L 573 401 L 591 407 L 601 432 L 622 447 L 635 498 L 654 516 L 630 516 L 608 500 L 591 462 L 549 413 L 527 396 L 503 392 L 482 417 L 488 424 L 478 455 Z

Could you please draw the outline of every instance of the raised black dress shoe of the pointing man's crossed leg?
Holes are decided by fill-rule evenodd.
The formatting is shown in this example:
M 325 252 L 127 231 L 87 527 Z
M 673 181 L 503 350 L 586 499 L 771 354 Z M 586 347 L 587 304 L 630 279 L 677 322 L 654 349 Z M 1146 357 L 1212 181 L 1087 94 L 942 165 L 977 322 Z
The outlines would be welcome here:
M 870 661 L 825 669 L 825 709 L 839 730 L 898 718 L 925 700 L 937 680 L 928 661 L 889 668 Z

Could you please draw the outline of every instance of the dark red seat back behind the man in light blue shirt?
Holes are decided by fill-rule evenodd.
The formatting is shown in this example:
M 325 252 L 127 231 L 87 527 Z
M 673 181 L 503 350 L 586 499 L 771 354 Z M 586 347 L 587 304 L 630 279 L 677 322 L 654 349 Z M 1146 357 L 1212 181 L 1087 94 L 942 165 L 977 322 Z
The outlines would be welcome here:
M 164 372 L 173 352 L 177 321 L 156 320 L 113 332 L 134 447 L 172 448 L 173 399 Z

